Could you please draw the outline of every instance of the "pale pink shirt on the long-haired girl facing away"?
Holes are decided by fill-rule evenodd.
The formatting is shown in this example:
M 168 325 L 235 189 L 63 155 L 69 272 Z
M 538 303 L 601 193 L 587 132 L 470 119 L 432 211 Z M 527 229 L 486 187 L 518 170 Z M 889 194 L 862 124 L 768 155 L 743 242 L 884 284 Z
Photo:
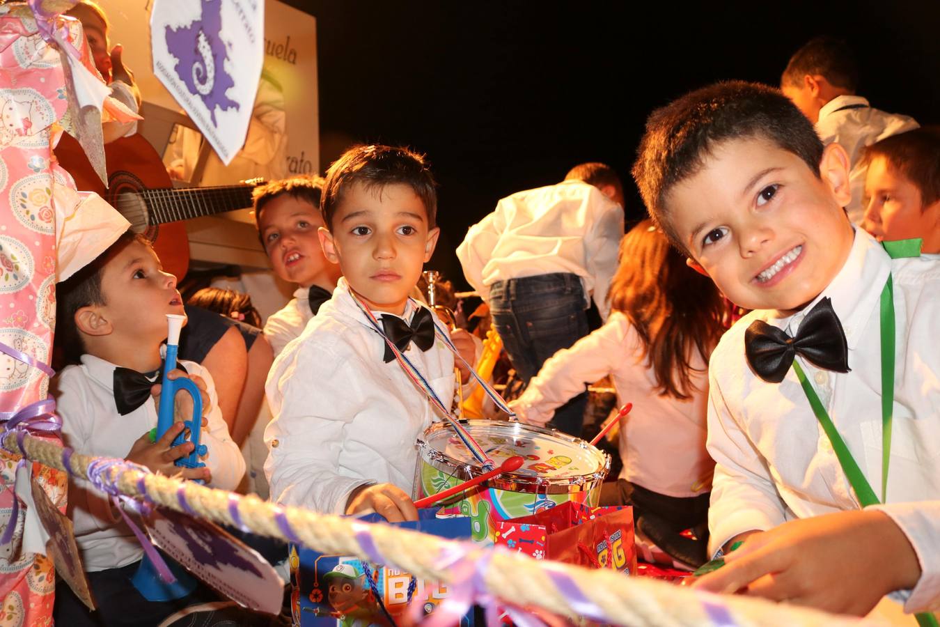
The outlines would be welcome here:
M 714 462 L 705 451 L 705 400 L 708 376 L 700 355 L 692 360 L 690 400 L 660 396 L 643 342 L 620 311 L 570 349 L 550 357 L 525 392 L 512 403 L 525 422 L 548 422 L 556 408 L 610 375 L 617 404 L 633 410 L 620 424 L 620 478 L 669 496 L 695 496 L 712 486 Z

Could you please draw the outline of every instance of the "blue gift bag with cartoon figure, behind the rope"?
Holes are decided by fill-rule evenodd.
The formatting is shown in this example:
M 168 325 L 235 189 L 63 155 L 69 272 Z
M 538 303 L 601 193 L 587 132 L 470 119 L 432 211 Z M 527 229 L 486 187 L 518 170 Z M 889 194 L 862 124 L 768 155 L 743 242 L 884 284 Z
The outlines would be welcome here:
M 435 518 L 434 512 L 421 509 L 417 522 L 394 525 L 450 540 L 470 540 L 470 519 Z M 378 514 L 362 520 L 384 522 Z M 449 593 L 445 584 L 418 581 L 389 566 L 349 556 L 324 556 L 295 544 L 290 545 L 290 583 L 293 624 L 303 627 L 397 624 L 409 603 L 422 603 L 428 614 Z M 464 617 L 461 624 L 471 625 L 472 620 Z

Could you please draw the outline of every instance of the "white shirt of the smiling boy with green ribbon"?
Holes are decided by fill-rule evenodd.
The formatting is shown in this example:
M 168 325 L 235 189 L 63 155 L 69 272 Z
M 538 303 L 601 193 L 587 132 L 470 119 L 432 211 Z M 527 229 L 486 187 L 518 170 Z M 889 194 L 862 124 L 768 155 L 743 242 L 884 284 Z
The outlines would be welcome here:
M 710 366 L 708 450 L 715 466 L 709 523 L 714 551 L 733 536 L 792 518 L 858 509 L 858 501 L 791 368 L 780 384 L 762 381 L 744 356 L 755 320 L 795 334 L 828 296 L 845 330 L 851 372 L 797 357 L 846 446 L 881 498 L 880 297 L 894 282 L 897 327 L 894 427 L 884 506 L 917 552 L 923 574 L 905 605 L 940 608 L 940 258 L 890 259 L 855 229 L 845 265 L 816 300 L 793 316 L 754 311 L 718 344 Z

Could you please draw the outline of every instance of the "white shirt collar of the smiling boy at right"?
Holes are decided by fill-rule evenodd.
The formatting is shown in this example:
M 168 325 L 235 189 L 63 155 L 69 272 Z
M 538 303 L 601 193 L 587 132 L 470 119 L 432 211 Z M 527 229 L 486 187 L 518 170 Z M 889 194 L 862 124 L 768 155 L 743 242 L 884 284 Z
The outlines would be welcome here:
M 842 269 L 816 298 L 789 317 L 776 317 L 776 325 L 796 333 L 810 309 L 828 296 L 845 331 L 850 349 L 858 345 L 862 331 L 874 313 L 885 281 L 891 273 L 891 258 L 873 237 L 854 228 L 854 241 Z

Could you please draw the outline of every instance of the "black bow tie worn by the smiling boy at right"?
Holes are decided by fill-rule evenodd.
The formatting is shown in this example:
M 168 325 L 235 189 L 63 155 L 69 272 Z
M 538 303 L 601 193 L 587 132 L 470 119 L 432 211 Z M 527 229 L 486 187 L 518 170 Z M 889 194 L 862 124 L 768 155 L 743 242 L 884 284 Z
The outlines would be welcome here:
M 775 384 L 783 381 L 797 354 L 827 370 L 850 369 L 845 332 L 828 298 L 807 313 L 796 337 L 765 321 L 752 322 L 744 334 L 744 352 L 760 378 Z

